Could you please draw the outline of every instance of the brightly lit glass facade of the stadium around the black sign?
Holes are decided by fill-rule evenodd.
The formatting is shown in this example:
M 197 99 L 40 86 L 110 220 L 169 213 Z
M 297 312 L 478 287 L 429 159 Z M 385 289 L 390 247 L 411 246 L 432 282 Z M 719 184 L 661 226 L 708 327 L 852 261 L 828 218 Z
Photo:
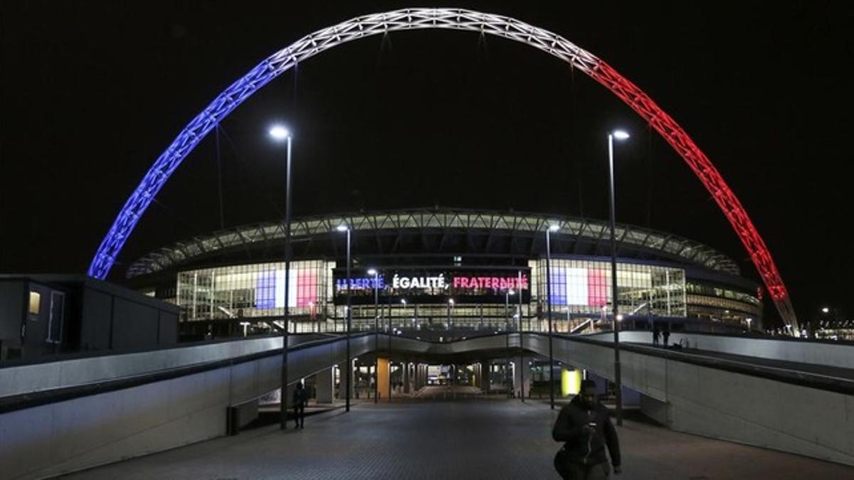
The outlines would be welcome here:
M 450 259 L 449 259 L 450 260 Z M 455 261 L 455 260 L 454 260 Z M 416 297 L 380 295 L 354 301 L 353 331 L 395 332 L 471 329 L 475 331 L 547 331 L 546 260 L 529 260 L 529 294 L 520 304 L 518 292 L 505 298 L 446 295 L 442 302 L 416 302 Z M 438 267 L 437 267 L 438 268 Z M 459 269 L 459 267 L 457 268 Z M 447 267 L 448 272 L 456 272 Z M 355 271 L 359 271 L 356 269 Z M 398 272 L 393 266 L 383 274 Z M 336 292 L 336 262 L 291 262 L 288 291 L 284 287 L 284 262 L 221 266 L 178 273 L 170 298 L 182 307 L 184 319 L 270 319 L 280 322 L 285 303 L 290 305 L 291 332 L 345 331 L 346 307 Z M 461 271 L 460 271 L 461 272 Z M 340 278 L 339 278 L 340 280 Z M 346 282 L 339 282 L 346 285 Z M 585 325 L 605 319 L 611 312 L 611 264 L 607 260 L 553 259 L 551 271 L 553 329 L 559 333 L 582 331 Z M 338 285 L 340 286 L 340 285 Z M 344 287 L 346 289 L 346 286 Z M 176 291 L 177 290 L 177 291 Z M 158 291 L 158 296 L 166 295 Z M 339 294 L 341 292 L 339 291 Z M 369 292 L 370 293 L 370 292 Z M 458 292 L 459 293 L 459 292 Z M 356 292 L 354 292 L 354 298 Z M 505 301 L 506 300 L 506 301 Z M 407 301 L 404 303 L 403 301 Z M 743 322 L 761 319 L 762 303 L 755 296 L 710 284 L 687 283 L 681 268 L 638 263 L 617 263 L 619 312 L 646 317 L 687 317 Z M 338 305 L 336 305 L 336 302 Z M 235 320 L 237 321 L 237 320 Z M 263 322 L 259 325 L 263 327 Z M 269 328 L 269 326 L 263 327 Z

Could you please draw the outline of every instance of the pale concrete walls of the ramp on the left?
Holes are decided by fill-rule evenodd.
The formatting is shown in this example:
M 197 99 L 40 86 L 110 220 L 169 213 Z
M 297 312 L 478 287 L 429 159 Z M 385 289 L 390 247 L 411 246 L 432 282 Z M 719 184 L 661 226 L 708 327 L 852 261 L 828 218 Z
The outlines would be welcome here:
M 351 353 L 365 354 L 373 345 L 372 337 L 355 337 Z M 94 378 L 114 379 L 156 372 L 170 366 L 192 365 L 191 360 L 196 360 L 193 363 L 205 358 L 222 360 L 228 354 L 236 358 L 246 352 L 280 346 L 281 338 L 254 339 L 85 359 L 97 360 L 95 363 L 72 360 L 9 367 L 0 369 L 4 376 L 0 378 L 0 389 L 4 390 L 0 396 L 9 395 L 10 391 L 20 393 L 21 389 L 35 391 L 87 383 Z M 290 351 L 289 383 L 341 363 L 345 349 L 345 341 L 338 340 Z M 59 475 L 225 435 L 228 407 L 278 388 L 281 361 L 280 355 L 267 356 L 208 372 L 0 414 L 0 476 Z M 72 362 L 76 363 L 62 365 Z M 159 370 L 152 370 L 156 367 Z M 68 377 L 61 375 L 63 370 Z M 125 375 L 117 376 L 117 372 Z

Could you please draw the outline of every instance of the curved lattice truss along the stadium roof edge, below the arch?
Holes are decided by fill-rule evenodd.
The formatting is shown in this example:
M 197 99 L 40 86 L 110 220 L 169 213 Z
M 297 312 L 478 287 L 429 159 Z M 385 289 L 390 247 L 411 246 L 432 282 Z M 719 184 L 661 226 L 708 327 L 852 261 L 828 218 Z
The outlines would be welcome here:
M 574 217 L 535 216 L 522 214 L 500 214 L 483 211 L 427 211 L 407 210 L 377 212 L 375 214 L 353 214 L 325 216 L 294 220 L 290 223 L 291 237 L 328 235 L 338 225 L 348 225 L 354 232 L 370 234 L 375 231 L 402 231 L 408 229 L 442 231 L 517 231 L 542 233 L 549 225 L 558 225 L 553 235 L 567 235 L 590 241 L 610 242 L 611 225 L 601 220 Z M 194 260 L 204 255 L 215 255 L 227 249 L 252 248 L 260 243 L 284 240 L 282 222 L 264 222 L 255 225 L 237 226 L 210 235 L 191 238 L 158 249 L 134 261 L 128 267 L 128 278 L 160 272 L 173 266 Z M 739 275 L 739 267 L 728 256 L 702 243 L 632 225 L 617 225 L 617 244 L 638 249 L 657 250 L 683 262 L 704 266 Z

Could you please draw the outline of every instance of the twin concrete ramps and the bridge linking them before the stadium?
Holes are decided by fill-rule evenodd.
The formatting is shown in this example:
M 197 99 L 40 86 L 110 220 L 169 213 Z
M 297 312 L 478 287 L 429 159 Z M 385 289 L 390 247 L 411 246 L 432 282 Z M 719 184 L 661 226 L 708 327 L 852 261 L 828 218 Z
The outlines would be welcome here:
M 345 338 L 291 338 L 289 383 L 345 360 Z M 605 338 L 554 337 L 554 356 L 613 378 Z M 854 465 L 854 378 L 816 371 L 821 361 L 847 371 L 839 363 L 845 365 L 854 347 L 835 348 L 830 356 L 803 347 L 798 355 L 813 363 L 798 371 L 767 364 L 783 361 L 774 354 L 791 354 L 777 344 L 759 348 L 764 356 L 752 357 L 754 363 L 724 356 L 733 345 L 749 353 L 751 343 L 736 340 L 708 342 L 717 345 L 718 357 L 625 344 L 623 384 L 642 394 L 645 413 L 673 430 Z M 548 337 L 512 333 L 439 343 L 351 337 L 353 357 L 377 352 L 451 363 L 522 350 L 547 355 Z M 260 337 L 3 366 L 2 477 L 49 477 L 223 436 L 230 407 L 278 388 L 281 361 L 281 338 Z

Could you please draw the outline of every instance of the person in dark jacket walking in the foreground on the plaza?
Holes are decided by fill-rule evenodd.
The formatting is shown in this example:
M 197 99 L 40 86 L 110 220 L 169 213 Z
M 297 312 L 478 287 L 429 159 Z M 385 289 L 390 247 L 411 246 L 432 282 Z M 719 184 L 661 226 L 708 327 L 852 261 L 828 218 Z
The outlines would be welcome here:
M 596 398 L 593 380 L 583 380 L 581 387 L 554 422 L 552 438 L 564 442 L 554 457 L 554 467 L 564 479 L 607 478 L 611 473 L 605 456 L 607 447 L 614 473 L 620 474 L 620 443 L 617 430 L 608 418 L 608 409 Z

